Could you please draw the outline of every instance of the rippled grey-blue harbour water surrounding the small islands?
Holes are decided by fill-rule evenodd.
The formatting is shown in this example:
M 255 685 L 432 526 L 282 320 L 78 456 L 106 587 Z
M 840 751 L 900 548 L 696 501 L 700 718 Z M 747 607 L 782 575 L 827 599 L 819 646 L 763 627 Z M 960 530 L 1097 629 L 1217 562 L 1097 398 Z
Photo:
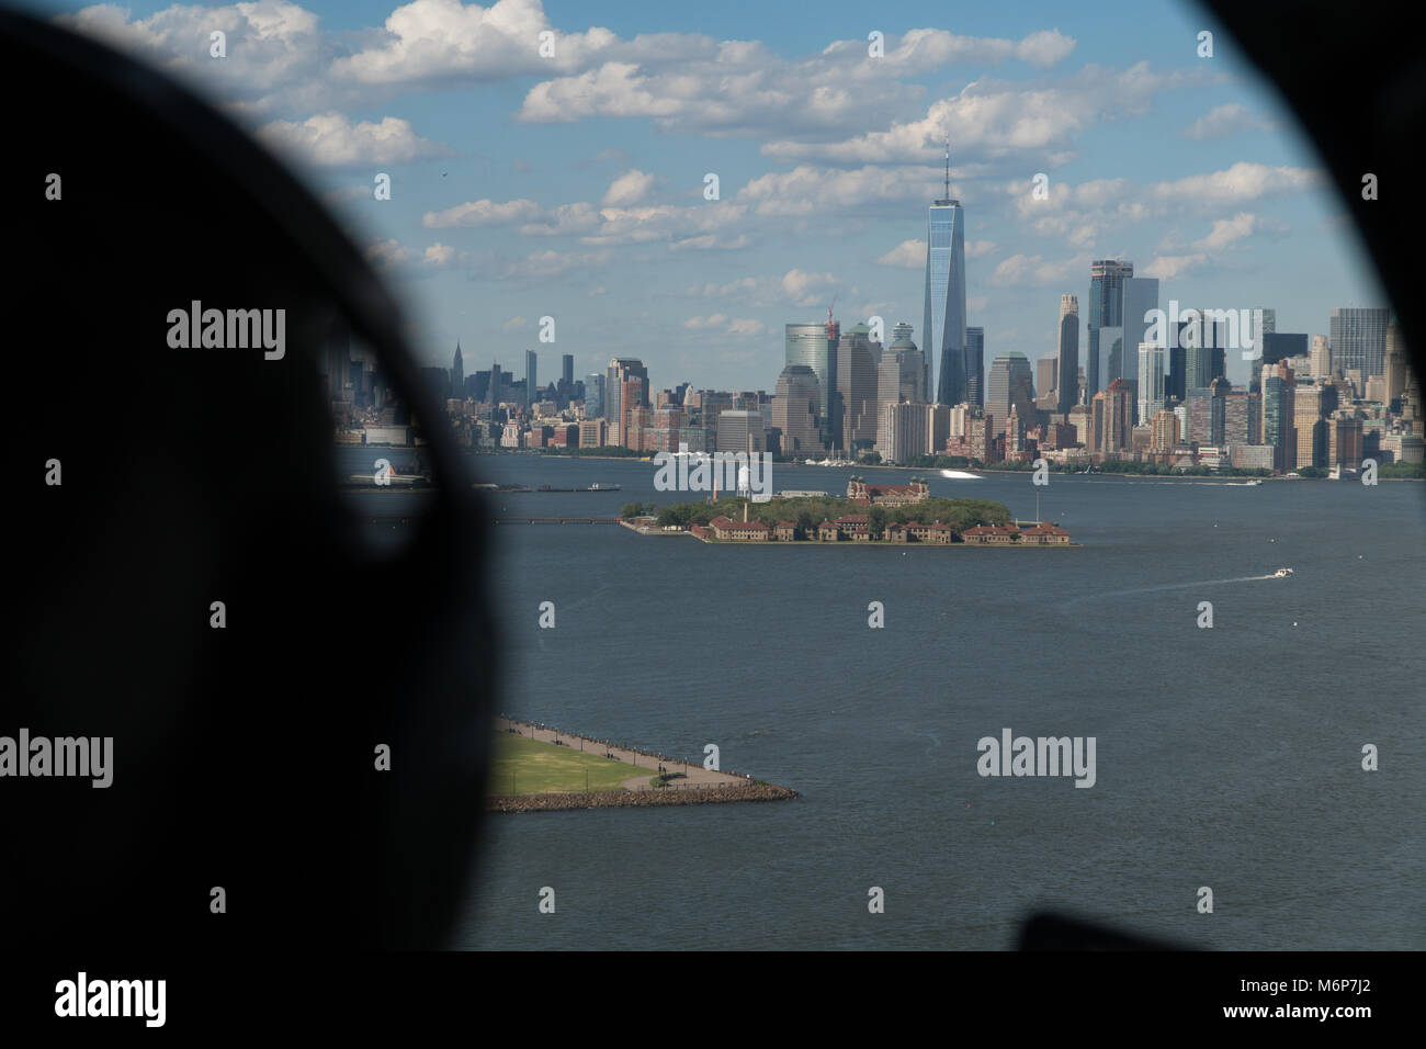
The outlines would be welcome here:
M 508 512 L 669 501 L 652 462 L 472 465 L 623 485 L 496 497 Z M 773 482 L 840 492 L 850 472 Z M 1035 512 L 1028 475 L 931 490 Z M 1007 948 L 1048 905 L 1212 948 L 1426 948 L 1423 500 L 1406 482 L 1052 477 L 1041 512 L 1084 547 L 1042 551 L 502 525 L 502 709 L 690 758 L 716 742 L 723 768 L 801 796 L 492 819 L 458 945 Z M 1295 575 L 1262 578 L 1279 567 Z M 1095 736 L 1095 786 L 981 778 L 977 741 L 1007 726 Z

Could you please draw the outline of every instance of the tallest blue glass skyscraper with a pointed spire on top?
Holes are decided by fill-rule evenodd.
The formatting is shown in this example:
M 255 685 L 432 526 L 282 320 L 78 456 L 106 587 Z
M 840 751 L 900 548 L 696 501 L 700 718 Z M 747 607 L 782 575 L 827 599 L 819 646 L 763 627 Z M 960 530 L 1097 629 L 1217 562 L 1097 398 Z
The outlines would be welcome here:
M 951 200 L 951 150 L 945 147 L 945 194 L 931 204 L 925 237 L 925 358 L 940 365 L 937 401 L 965 400 L 965 214 Z

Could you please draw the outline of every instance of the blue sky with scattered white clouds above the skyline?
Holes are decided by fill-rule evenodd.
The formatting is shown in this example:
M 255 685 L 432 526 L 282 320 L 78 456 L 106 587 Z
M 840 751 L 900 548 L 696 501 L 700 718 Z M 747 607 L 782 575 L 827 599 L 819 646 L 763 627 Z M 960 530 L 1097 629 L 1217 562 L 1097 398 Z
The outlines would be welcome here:
M 30 7 L 287 158 L 405 304 L 424 365 L 459 340 L 466 374 L 523 375 L 536 350 L 540 385 L 569 353 L 576 378 L 620 355 L 655 390 L 771 391 L 783 325 L 834 300 L 844 327 L 910 321 L 921 344 L 947 137 L 987 368 L 1054 354 L 1062 293 L 1082 355 L 1095 258 L 1158 277 L 1162 308 L 1269 307 L 1278 331 L 1387 305 L 1275 90 L 1181 0 Z

